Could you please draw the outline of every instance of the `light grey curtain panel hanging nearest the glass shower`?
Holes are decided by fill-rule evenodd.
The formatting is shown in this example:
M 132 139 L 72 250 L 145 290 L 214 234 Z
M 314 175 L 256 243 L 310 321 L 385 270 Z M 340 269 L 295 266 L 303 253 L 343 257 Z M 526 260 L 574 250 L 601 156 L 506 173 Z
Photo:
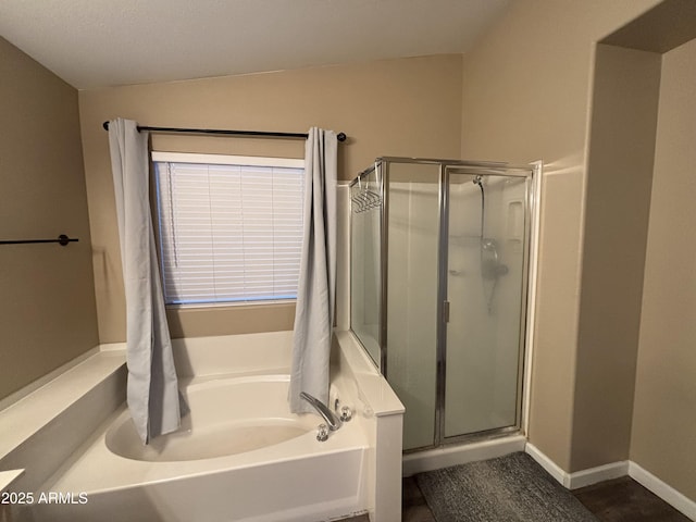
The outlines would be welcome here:
M 333 130 L 312 127 L 304 148 L 304 220 L 297 289 L 289 402 L 295 413 L 313 409 L 300 391 L 328 403 L 336 288 L 336 177 L 338 142 Z

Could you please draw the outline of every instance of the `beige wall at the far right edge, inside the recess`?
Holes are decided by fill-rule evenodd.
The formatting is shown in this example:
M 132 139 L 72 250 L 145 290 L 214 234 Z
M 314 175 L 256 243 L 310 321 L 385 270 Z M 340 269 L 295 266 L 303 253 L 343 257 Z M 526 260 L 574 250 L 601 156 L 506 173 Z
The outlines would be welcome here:
M 631 460 L 696 499 L 696 40 L 662 58 Z

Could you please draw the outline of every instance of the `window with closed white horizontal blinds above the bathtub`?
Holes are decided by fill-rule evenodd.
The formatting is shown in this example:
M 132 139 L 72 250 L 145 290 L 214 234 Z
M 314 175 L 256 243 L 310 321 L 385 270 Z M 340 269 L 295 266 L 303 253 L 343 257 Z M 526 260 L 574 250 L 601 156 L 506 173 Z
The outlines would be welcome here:
M 303 160 L 152 152 L 167 304 L 295 299 Z

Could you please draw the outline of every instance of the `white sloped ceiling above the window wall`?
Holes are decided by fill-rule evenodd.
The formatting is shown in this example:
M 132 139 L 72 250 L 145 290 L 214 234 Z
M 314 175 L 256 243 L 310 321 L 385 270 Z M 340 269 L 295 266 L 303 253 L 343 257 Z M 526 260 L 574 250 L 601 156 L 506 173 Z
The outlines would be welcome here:
M 465 52 L 511 0 L 2 0 L 0 36 L 78 89 Z

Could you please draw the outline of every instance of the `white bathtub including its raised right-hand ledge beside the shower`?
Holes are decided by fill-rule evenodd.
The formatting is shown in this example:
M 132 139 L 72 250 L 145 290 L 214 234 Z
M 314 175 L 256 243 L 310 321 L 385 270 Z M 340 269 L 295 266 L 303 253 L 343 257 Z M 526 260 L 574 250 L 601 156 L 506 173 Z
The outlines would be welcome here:
M 65 501 L 35 502 L 27 520 L 400 520 L 402 406 L 365 356 L 336 344 L 331 402 L 338 398 L 355 413 L 319 442 L 323 420 L 288 411 L 289 377 L 278 370 L 287 368 L 289 338 L 229 336 L 175 347 L 177 368 L 192 373 L 179 380 L 191 410 L 183 428 L 144 447 L 122 406 L 35 493 Z

